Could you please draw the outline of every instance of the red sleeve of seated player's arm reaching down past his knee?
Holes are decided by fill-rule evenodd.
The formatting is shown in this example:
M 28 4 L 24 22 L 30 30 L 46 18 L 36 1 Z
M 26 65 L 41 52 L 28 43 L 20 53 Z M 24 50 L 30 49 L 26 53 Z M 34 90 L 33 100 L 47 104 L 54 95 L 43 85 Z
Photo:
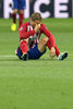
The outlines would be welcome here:
M 41 24 L 40 25 L 40 32 L 44 33 L 50 40 L 51 47 L 56 46 L 56 39 L 53 35 L 49 32 L 49 29 L 46 27 L 46 25 Z

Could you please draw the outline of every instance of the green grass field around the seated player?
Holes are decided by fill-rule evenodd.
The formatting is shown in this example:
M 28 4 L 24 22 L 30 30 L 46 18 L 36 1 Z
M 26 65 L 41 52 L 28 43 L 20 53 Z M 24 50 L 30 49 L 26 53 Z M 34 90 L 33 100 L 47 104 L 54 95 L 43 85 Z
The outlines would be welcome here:
M 20 61 L 11 23 L 0 19 L 0 109 L 73 109 L 73 19 L 44 20 L 61 52 L 69 52 L 64 61 L 51 60 L 49 50 L 39 60 Z

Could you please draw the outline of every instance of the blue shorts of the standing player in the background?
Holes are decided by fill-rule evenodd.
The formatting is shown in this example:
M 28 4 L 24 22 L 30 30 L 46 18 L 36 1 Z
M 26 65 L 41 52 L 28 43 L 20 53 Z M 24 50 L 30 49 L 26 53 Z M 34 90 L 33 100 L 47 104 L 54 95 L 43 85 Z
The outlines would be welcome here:
M 25 10 L 26 0 L 13 0 L 13 9 Z

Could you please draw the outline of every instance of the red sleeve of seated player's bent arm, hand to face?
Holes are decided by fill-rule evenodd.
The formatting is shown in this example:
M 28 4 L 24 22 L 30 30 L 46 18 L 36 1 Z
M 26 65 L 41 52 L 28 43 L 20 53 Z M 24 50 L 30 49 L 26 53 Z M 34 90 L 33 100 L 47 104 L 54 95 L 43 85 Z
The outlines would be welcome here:
M 20 28 L 19 28 L 19 32 L 20 32 L 20 39 L 26 39 L 28 38 L 31 35 L 34 35 L 35 34 L 35 31 L 29 31 L 27 32 L 27 25 L 28 25 L 28 22 L 27 23 L 24 23 Z

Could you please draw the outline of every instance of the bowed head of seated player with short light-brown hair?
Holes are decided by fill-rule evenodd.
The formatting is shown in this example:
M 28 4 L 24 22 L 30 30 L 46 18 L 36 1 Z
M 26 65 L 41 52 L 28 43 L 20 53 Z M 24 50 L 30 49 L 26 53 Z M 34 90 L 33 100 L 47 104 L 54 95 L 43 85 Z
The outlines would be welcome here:
M 31 25 L 33 27 L 36 26 L 36 24 L 40 24 L 42 21 L 42 17 L 40 15 L 40 13 L 33 13 L 32 16 L 31 16 Z

